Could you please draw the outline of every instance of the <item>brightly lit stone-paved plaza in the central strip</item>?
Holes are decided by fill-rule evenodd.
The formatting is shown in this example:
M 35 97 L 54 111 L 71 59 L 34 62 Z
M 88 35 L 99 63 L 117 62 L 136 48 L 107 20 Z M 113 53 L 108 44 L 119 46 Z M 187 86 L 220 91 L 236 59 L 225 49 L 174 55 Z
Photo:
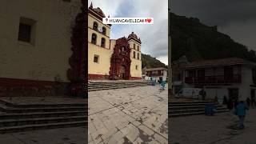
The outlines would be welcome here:
M 159 88 L 89 92 L 89 143 L 167 143 L 168 90 Z

